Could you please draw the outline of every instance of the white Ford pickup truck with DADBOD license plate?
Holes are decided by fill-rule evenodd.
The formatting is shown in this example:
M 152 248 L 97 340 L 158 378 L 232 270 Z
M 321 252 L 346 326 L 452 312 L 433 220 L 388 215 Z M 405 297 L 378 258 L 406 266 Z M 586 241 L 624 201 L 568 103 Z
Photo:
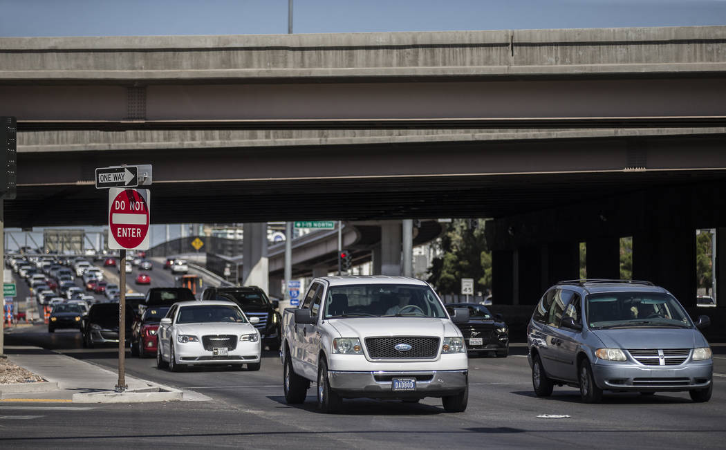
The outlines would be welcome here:
M 283 384 L 290 404 L 317 383 L 321 412 L 343 398 L 440 397 L 446 412 L 468 400 L 468 359 L 454 322 L 431 286 L 406 277 L 314 279 L 298 308 L 282 316 Z

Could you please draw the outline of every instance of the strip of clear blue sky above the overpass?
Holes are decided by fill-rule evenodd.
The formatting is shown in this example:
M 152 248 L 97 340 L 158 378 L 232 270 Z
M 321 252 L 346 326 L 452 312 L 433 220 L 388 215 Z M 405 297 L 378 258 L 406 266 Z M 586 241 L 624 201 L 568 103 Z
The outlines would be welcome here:
M 295 33 L 726 25 L 726 0 L 295 0 Z M 0 0 L 0 36 L 287 33 L 287 0 Z

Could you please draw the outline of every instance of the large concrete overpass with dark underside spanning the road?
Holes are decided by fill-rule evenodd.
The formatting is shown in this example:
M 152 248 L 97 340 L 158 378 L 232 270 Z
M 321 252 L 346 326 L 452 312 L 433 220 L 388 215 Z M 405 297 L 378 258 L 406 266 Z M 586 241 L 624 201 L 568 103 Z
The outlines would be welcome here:
M 521 304 L 523 274 L 576 277 L 575 239 L 641 233 L 689 303 L 689 236 L 726 226 L 725 61 L 721 26 L 3 38 L 6 224 L 102 224 L 93 169 L 151 163 L 156 223 L 494 217 Z M 618 225 L 591 220 L 608 207 Z

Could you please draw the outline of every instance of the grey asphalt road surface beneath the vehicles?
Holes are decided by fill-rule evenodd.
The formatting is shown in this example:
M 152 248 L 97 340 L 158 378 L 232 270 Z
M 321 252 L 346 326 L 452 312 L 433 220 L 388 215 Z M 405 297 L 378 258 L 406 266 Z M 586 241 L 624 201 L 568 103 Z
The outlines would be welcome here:
M 40 345 L 102 367 L 116 368 L 116 349 L 81 348 L 78 332 L 49 335 L 44 327 L 7 335 L 9 345 Z M 582 404 L 574 388 L 536 398 L 525 348 L 506 359 L 470 359 L 466 412 L 447 414 L 441 401 L 346 400 L 342 414 L 319 414 L 314 386 L 303 405 L 285 404 L 276 352 L 259 372 L 227 368 L 173 373 L 153 359 L 131 358 L 126 371 L 195 390 L 212 401 L 167 404 L 0 404 L 0 447 L 160 446 L 242 448 L 719 448 L 726 438 L 726 348 L 714 346 L 714 395 L 694 404 L 688 393 L 606 393 Z M 561 419 L 538 418 L 561 414 Z

